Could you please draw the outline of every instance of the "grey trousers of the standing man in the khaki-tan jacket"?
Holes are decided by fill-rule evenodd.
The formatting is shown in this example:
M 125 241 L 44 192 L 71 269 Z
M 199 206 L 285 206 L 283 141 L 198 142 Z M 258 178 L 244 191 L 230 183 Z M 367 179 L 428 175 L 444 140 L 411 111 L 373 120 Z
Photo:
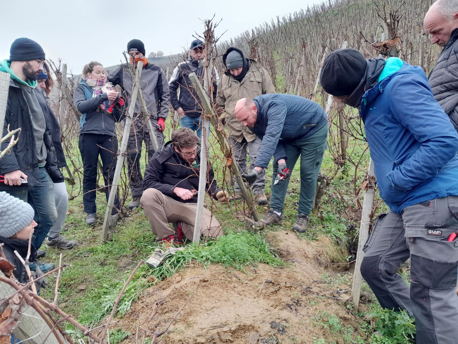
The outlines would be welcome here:
M 256 162 L 256 157 L 259 153 L 259 148 L 261 147 L 261 139 L 256 138 L 253 141 L 247 141 L 245 138 L 241 142 L 237 142 L 231 136 L 228 136 L 229 144 L 232 147 L 232 154 L 234 154 L 234 159 L 239 166 L 240 173 L 246 173 L 248 171 L 246 164 L 246 156 L 250 157 L 250 167 L 249 171 L 251 172 L 255 168 L 254 164 Z M 263 168 L 262 172 L 256 178 L 256 181 L 251 186 L 254 194 L 264 193 L 264 188 L 266 186 L 266 170 Z M 240 192 L 239 183 L 234 177 L 234 191 Z

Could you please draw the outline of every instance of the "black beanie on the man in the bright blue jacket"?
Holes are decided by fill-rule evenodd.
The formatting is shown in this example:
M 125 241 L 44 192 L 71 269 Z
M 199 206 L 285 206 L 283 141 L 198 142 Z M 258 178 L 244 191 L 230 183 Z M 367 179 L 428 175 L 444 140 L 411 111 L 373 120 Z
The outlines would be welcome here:
M 355 49 L 338 49 L 327 55 L 320 74 L 320 84 L 328 94 L 350 95 L 364 78 L 367 62 Z

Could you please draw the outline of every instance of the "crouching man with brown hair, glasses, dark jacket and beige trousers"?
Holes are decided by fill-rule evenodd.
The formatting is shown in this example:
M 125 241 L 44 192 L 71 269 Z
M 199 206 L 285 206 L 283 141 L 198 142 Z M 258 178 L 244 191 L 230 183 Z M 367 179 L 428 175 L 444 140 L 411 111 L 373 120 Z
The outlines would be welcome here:
M 201 162 L 198 142 L 191 129 L 180 128 L 148 163 L 140 203 L 157 241 L 182 244 L 185 237 L 192 240 Z M 229 194 L 218 188 L 211 165 L 208 171 L 208 194 L 220 204 L 227 204 Z M 223 235 L 218 220 L 207 209 L 202 214 L 201 234 L 212 238 Z

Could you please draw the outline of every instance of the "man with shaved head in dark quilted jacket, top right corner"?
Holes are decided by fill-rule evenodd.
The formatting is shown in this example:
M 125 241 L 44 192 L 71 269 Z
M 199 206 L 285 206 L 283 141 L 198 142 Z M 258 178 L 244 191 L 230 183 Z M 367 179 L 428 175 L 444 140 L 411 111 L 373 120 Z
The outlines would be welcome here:
M 434 99 L 458 130 L 458 0 L 436 1 L 423 25 L 431 35 L 431 43 L 444 48 L 428 78 Z

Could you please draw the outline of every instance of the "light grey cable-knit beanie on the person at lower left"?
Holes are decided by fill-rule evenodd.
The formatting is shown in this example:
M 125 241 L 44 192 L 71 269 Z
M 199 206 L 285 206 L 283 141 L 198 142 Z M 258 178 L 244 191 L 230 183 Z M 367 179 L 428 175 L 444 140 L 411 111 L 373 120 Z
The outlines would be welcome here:
M 32 205 L 0 191 L 0 236 L 12 237 L 33 220 L 34 214 Z

